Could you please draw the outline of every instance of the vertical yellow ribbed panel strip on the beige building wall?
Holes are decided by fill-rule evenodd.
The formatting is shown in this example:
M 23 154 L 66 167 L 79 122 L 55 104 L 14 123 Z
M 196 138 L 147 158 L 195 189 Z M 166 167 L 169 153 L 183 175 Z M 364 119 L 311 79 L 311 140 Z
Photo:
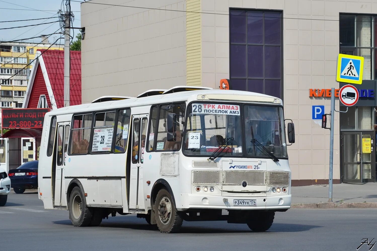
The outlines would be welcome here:
M 201 12 L 201 0 L 186 0 L 186 11 Z M 186 12 L 186 79 L 187 85 L 201 86 L 201 15 Z

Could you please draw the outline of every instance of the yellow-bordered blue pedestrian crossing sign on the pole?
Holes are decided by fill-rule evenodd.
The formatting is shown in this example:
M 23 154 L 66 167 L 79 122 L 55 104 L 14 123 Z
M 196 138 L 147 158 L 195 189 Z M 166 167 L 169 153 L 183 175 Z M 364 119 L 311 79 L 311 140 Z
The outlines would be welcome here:
M 363 80 L 363 66 L 363 57 L 339 54 L 336 81 L 350 84 L 361 84 Z

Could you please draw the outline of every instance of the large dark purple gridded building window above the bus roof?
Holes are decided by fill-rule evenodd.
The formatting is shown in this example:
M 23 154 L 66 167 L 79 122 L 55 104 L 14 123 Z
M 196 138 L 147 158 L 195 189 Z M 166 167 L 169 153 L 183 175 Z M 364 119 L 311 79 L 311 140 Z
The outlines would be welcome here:
M 234 90 L 282 97 L 282 13 L 230 10 L 230 79 Z

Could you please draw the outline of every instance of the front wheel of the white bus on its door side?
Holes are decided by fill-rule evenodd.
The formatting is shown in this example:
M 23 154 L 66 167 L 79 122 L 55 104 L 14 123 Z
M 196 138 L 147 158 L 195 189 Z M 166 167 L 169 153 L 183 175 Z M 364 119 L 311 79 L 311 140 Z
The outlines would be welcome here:
M 176 210 L 172 195 L 166 190 L 158 191 L 155 201 L 155 218 L 161 233 L 176 233 L 182 227 L 183 219 Z

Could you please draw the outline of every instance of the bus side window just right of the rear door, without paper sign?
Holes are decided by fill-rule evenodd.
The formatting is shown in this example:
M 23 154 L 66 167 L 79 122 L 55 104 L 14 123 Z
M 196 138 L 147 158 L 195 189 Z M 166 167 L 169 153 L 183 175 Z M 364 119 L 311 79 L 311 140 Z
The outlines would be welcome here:
M 87 154 L 93 115 L 75 115 L 69 141 L 69 154 Z

